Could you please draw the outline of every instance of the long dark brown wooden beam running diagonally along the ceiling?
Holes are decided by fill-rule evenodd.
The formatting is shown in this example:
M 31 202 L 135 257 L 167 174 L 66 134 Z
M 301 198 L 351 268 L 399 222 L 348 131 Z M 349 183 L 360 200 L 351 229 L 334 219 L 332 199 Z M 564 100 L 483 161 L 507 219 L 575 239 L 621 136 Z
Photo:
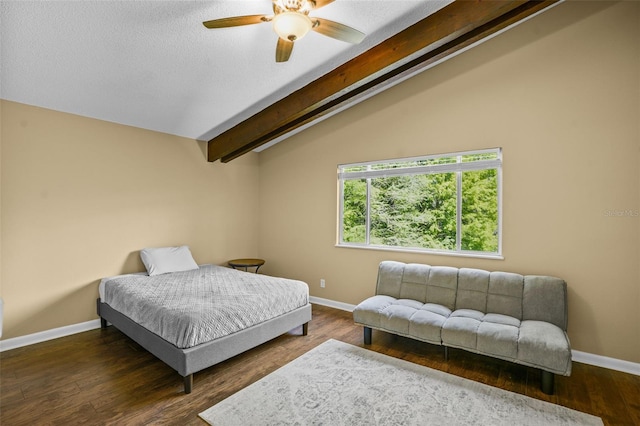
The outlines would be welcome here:
M 455 1 L 214 137 L 208 161 L 231 161 L 558 1 Z

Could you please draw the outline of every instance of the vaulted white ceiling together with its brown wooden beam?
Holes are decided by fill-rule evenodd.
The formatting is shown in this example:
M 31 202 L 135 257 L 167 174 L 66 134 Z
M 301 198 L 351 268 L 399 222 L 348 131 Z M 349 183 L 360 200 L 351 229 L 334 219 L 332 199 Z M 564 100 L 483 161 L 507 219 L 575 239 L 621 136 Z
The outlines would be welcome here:
M 276 63 L 270 0 L 0 2 L 0 98 L 208 141 L 209 161 L 268 146 L 509 25 L 547 1 L 336 0 L 367 34 L 317 33 Z

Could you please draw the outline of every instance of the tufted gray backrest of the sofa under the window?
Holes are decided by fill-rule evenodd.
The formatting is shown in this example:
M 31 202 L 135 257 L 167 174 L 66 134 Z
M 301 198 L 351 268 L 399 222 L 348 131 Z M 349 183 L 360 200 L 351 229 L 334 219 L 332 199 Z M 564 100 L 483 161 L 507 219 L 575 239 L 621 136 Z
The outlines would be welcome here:
M 567 329 L 567 286 L 555 277 L 383 261 L 376 294 L 473 309 Z

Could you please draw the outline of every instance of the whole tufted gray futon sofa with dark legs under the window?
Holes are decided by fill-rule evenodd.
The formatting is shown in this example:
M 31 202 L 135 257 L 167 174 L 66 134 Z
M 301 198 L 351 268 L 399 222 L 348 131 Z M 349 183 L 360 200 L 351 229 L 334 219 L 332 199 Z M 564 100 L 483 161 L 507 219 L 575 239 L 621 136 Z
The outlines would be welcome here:
M 571 374 L 567 285 L 554 277 L 480 269 L 380 263 L 376 295 L 353 311 L 371 330 L 464 349 L 542 370 L 542 391 L 554 374 Z

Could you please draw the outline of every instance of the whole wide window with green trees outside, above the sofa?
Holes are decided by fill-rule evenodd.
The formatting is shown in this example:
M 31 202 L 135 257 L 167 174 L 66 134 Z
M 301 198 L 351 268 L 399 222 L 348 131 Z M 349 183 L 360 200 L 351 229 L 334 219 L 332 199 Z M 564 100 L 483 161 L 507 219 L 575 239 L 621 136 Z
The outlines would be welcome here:
M 340 246 L 501 254 L 500 149 L 338 166 Z

